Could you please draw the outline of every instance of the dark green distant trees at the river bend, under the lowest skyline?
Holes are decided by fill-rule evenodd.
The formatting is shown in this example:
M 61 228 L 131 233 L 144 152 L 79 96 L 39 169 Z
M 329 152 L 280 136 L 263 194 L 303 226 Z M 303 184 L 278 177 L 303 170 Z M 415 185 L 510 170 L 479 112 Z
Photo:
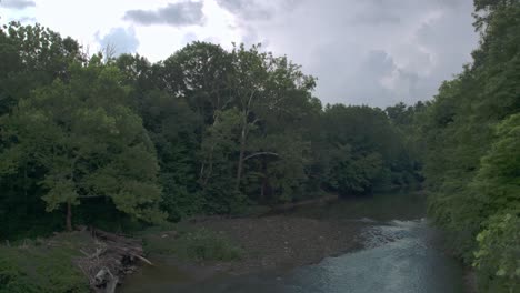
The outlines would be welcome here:
M 320 131 L 327 153 L 321 159 L 327 163 L 327 189 L 350 195 L 412 183 L 401 178 L 401 172 L 414 172 L 404 137 L 379 109 L 328 107 Z

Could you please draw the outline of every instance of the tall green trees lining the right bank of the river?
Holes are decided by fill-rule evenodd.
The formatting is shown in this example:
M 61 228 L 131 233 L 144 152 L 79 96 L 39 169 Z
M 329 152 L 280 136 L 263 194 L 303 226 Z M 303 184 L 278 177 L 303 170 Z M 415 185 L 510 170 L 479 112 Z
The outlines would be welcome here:
M 520 1 L 474 4 L 473 62 L 426 110 L 401 112 L 451 249 L 481 292 L 520 292 Z

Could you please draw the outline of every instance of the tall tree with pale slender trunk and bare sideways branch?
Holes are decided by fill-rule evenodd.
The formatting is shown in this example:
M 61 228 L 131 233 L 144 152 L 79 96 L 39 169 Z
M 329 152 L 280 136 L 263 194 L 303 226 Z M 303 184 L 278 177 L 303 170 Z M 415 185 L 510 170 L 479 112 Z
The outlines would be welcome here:
M 291 109 L 291 102 L 300 97 L 308 101 L 314 87 L 314 79 L 304 75 L 298 65 L 287 58 L 274 58 L 259 51 L 260 47 L 246 50 L 243 46 L 234 48 L 232 94 L 239 109 L 240 137 L 237 163 L 236 190 L 240 190 L 244 162 L 258 155 L 274 155 L 276 152 L 258 150 L 246 152 L 254 145 L 248 145 L 250 134 L 260 132 L 270 125 L 266 122 L 269 115 L 296 115 L 298 109 Z M 294 94 L 297 93 L 297 94 Z

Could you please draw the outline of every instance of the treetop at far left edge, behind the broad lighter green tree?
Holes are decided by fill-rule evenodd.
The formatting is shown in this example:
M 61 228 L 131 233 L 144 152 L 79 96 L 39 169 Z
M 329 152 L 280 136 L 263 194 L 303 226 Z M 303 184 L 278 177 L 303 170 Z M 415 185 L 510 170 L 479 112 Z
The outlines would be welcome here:
M 41 85 L 68 78 L 72 61 L 83 62 L 78 42 L 41 27 L 10 22 L 0 28 L 0 114 Z

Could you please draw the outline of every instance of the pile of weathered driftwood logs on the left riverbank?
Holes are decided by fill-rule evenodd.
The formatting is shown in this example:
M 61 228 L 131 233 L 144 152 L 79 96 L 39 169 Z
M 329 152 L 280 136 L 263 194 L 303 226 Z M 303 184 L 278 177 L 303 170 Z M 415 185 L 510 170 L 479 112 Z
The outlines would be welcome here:
M 87 231 L 84 226 L 78 230 Z M 118 283 L 137 270 L 138 262 L 153 265 L 143 256 L 141 240 L 96 229 L 88 231 L 94 239 L 94 246 L 80 250 L 84 257 L 76 262 L 89 279 L 93 292 L 113 293 Z

